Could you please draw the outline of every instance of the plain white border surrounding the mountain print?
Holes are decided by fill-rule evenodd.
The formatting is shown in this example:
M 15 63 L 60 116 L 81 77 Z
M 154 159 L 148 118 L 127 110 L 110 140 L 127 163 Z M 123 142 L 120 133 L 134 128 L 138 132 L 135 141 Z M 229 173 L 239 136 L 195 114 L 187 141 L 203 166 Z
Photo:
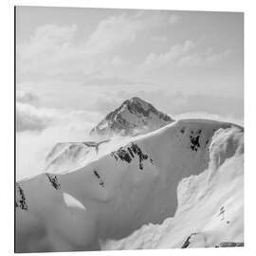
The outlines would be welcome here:
M 2 3 L 3 2 L 3 3 Z M 14 134 L 14 103 L 13 103 L 13 7 L 17 6 L 59 6 L 59 7 L 91 7 L 91 8 L 122 8 L 122 9 L 180 9 L 180 10 L 209 10 L 209 11 L 243 11 L 245 12 L 245 127 L 246 127 L 246 224 L 245 224 L 245 243 L 244 248 L 207 248 L 207 249 L 172 249 L 172 250 L 137 250 L 137 251 L 101 251 L 101 252 L 81 252 L 81 253 L 65 253 L 65 255 L 232 255 L 255 254 L 255 219 L 256 219 L 256 168 L 255 158 L 255 132 L 256 132 L 256 82 L 255 82 L 255 47 L 256 47 L 256 11 L 255 1 L 241 0 L 9 0 L 1 1 L 1 84 L 0 84 L 0 180 L 1 180 L 1 246 L 2 255 L 13 254 L 13 134 Z M 255 244 L 255 245 L 254 245 Z M 59 253 L 62 255 L 64 253 Z M 28 255 L 28 254 L 27 254 Z M 29 254 L 33 255 L 33 254 Z M 56 253 L 47 253 L 46 255 L 56 255 Z

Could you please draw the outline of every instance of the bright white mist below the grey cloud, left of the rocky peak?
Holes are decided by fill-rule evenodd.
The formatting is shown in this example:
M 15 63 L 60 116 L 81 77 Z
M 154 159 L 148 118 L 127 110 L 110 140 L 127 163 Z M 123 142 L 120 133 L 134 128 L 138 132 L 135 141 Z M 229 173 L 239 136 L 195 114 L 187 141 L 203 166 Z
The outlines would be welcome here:
M 46 155 L 59 142 L 87 141 L 93 123 L 86 120 L 47 126 L 41 132 L 24 131 L 16 135 L 17 180 L 44 171 Z

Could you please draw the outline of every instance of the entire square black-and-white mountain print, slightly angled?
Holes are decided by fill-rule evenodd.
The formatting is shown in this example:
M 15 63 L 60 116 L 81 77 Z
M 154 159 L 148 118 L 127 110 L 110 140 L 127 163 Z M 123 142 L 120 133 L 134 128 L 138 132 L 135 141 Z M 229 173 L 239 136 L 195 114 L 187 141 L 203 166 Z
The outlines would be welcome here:
M 244 12 L 13 11 L 15 252 L 244 247 Z

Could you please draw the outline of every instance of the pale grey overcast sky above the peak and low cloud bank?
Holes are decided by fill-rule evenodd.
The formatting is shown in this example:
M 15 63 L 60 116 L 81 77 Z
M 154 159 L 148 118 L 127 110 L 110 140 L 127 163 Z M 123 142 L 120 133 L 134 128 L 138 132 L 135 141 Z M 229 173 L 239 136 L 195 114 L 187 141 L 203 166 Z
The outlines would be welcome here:
M 17 90 L 102 115 L 133 96 L 243 119 L 243 13 L 17 8 Z

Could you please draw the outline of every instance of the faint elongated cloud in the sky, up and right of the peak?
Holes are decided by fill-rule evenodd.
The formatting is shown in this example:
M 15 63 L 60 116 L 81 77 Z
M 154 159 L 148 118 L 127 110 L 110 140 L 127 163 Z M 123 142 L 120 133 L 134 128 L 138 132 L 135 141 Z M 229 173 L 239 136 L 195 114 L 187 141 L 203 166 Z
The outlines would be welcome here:
M 150 53 L 144 61 L 138 65 L 140 70 L 154 70 L 167 66 L 203 66 L 218 63 L 229 57 L 230 49 L 222 52 L 213 52 L 210 47 L 203 48 L 200 40 L 196 43 L 186 40 L 183 43 L 171 46 L 169 51 L 155 54 Z

